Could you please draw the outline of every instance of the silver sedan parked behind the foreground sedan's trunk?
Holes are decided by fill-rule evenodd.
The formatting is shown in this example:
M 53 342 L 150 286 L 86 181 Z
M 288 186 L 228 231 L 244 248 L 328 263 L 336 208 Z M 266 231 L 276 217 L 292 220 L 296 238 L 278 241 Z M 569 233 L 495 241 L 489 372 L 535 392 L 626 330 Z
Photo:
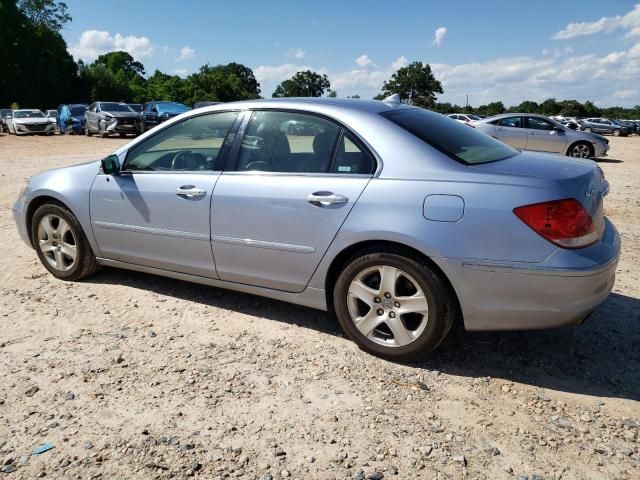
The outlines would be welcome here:
M 609 141 L 574 131 L 543 115 L 504 113 L 472 124 L 476 129 L 520 150 L 552 152 L 577 158 L 603 157 Z

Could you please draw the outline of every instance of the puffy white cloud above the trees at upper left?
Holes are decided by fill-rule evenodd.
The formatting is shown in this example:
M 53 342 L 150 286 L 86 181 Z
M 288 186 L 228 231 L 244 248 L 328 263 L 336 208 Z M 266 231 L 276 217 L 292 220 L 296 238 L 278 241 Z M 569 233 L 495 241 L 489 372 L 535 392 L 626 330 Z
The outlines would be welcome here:
M 138 60 L 152 56 L 155 46 L 147 37 L 125 37 L 119 33 L 111 35 L 103 30 L 86 30 L 80 35 L 78 43 L 69 48 L 71 55 L 82 60 L 94 60 L 103 53 L 117 50 L 124 50 Z

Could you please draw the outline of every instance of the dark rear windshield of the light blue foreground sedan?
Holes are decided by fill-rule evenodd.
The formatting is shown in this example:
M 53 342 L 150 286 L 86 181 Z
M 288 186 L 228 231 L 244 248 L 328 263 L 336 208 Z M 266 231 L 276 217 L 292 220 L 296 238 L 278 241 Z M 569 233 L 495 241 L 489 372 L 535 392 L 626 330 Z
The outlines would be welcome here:
M 475 165 L 513 157 L 518 150 L 455 120 L 421 108 L 380 115 L 440 150 L 454 160 Z

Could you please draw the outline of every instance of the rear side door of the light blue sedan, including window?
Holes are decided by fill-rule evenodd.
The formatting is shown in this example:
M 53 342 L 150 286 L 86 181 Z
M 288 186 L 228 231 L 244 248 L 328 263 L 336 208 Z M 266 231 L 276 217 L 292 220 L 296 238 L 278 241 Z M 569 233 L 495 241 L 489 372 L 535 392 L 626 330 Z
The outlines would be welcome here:
M 376 162 L 321 116 L 261 110 L 245 123 L 213 195 L 216 269 L 222 280 L 301 292 Z

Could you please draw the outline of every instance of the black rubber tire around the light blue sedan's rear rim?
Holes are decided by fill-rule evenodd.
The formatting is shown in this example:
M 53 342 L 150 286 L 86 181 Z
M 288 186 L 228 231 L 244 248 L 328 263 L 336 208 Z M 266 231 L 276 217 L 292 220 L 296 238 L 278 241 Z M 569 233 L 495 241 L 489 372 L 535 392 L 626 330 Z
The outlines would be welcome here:
M 379 345 L 360 333 L 351 319 L 347 306 L 349 285 L 362 270 L 376 265 L 389 265 L 405 271 L 419 284 L 427 299 L 429 306 L 427 326 L 409 345 L 403 347 Z M 389 360 L 415 360 L 437 347 L 445 333 L 446 304 L 440 295 L 442 288 L 439 278 L 425 265 L 413 259 L 393 253 L 369 253 L 348 262 L 340 273 L 333 291 L 333 307 L 344 332 L 363 350 Z

